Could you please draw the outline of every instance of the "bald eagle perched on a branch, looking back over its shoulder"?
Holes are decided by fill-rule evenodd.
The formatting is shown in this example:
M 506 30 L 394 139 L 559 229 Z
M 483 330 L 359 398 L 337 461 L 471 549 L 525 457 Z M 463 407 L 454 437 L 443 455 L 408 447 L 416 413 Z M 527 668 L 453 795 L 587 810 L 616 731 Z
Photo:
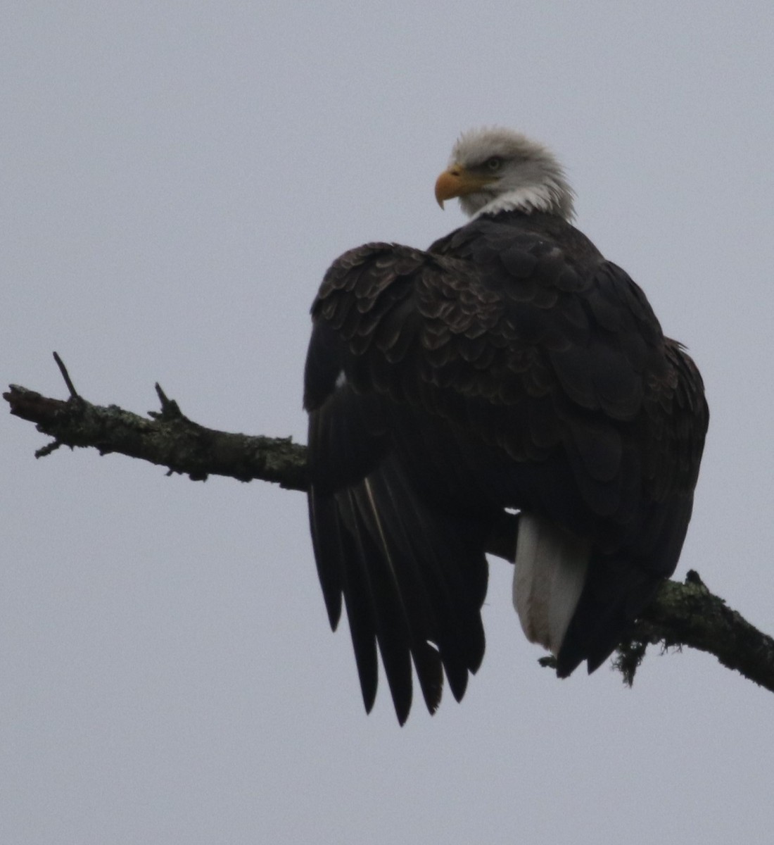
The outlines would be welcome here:
M 403 724 L 484 656 L 486 553 L 522 628 L 569 675 L 614 651 L 674 571 L 708 422 L 701 376 L 645 294 L 571 225 L 554 155 L 463 134 L 436 182 L 471 220 L 426 251 L 333 262 L 305 373 L 309 515 L 366 711 L 377 649 Z

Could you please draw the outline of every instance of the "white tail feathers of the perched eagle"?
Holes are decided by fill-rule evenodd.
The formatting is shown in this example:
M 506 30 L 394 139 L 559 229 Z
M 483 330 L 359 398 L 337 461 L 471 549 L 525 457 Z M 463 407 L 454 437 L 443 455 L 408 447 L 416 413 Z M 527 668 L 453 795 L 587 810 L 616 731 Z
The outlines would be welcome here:
M 558 654 L 588 569 L 589 544 L 540 516 L 519 515 L 513 606 L 531 642 Z

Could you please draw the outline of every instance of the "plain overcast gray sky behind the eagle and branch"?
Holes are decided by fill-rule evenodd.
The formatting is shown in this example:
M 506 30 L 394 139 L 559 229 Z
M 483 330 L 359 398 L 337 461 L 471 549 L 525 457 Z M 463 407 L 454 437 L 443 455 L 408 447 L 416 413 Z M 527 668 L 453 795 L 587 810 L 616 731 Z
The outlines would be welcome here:
M 8 4 L 2 382 L 304 442 L 308 308 L 459 225 L 460 130 L 565 162 L 578 225 L 690 347 L 712 422 L 679 576 L 774 631 L 774 5 Z M 770 693 L 652 650 L 539 668 L 492 564 L 461 705 L 366 717 L 298 493 L 167 478 L 0 416 L 0 841 L 770 842 Z

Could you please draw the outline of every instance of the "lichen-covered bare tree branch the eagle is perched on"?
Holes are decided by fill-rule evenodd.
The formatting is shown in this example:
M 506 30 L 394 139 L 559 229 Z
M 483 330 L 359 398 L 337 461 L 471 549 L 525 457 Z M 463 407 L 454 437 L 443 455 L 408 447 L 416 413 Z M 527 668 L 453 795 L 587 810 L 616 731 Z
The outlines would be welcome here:
M 289 490 L 307 488 L 306 447 L 290 438 L 248 436 L 204 428 L 185 417 L 176 401 L 156 385 L 160 412 L 149 417 L 115 405 L 96 406 L 73 387 L 61 359 L 57 364 L 68 384 L 67 401 L 51 399 L 12 384 L 3 399 L 10 412 L 35 423 L 38 431 L 53 438 L 35 452 L 51 454 L 59 446 L 92 447 L 100 455 L 117 452 L 159 466 L 168 474 L 181 473 L 194 481 L 221 475 L 247 482 L 257 479 Z M 510 559 L 515 550 L 517 516 L 508 515 L 490 542 L 490 552 Z M 619 646 L 614 666 L 631 684 L 649 644 L 663 648 L 690 646 L 707 651 L 730 669 L 774 692 L 774 639 L 757 630 L 722 598 L 713 595 L 696 572 L 684 584 L 666 581 L 657 597 Z M 553 658 L 541 660 L 551 666 Z

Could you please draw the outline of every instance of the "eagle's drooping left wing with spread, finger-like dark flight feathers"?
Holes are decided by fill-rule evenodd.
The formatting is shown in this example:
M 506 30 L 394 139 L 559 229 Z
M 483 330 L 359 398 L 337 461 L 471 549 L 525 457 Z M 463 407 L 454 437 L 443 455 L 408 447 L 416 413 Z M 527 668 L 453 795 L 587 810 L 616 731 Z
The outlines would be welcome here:
M 329 619 L 335 628 L 343 595 L 366 709 L 378 645 L 400 722 L 412 661 L 432 712 L 443 671 L 459 699 L 484 654 L 490 513 L 449 513 L 396 448 L 398 428 L 413 450 L 438 448 L 436 418 L 414 426 L 413 414 L 427 415 L 404 397 L 418 393 L 414 285 L 431 264 L 387 245 L 338 259 L 314 307 L 306 365 L 311 533 Z

